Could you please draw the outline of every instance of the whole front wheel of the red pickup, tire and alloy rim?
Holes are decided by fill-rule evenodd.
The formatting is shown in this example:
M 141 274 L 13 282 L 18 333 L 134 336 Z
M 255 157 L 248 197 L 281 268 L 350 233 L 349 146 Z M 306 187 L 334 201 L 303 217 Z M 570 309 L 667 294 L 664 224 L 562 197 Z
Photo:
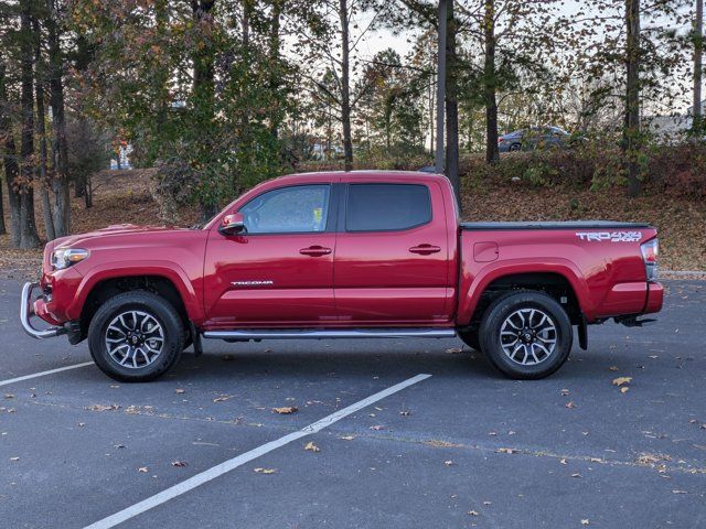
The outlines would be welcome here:
M 103 373 L 124 382 L 153 380 L 184 349 L 184 324 L 163 298 L 147 291 L 105 302 L 88 327 L 90 356 Z

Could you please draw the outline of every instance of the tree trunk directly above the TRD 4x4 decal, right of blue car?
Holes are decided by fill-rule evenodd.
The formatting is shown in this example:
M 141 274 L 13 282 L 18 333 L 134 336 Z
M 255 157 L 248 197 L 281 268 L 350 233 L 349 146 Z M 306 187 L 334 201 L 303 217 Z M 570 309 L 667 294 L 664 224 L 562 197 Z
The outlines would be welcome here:
M 623 159 L 628 175 L 628 194 L 640 194 L 640 0 L 625 0 L 627 25 L 627 90 Z

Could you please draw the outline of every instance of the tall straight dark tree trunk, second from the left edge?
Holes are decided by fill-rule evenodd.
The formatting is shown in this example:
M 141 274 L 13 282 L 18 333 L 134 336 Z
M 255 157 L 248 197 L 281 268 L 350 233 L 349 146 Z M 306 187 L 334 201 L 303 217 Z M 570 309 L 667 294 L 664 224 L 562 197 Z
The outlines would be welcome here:
M 34 219 L 33 154 L 34 154 L 34 54 L 32 50 L 32 3 L 23 0 L 20 14 L 20 105 L 22 107 L 22 137 L 20 143 L 20 248 L 36 248 Z

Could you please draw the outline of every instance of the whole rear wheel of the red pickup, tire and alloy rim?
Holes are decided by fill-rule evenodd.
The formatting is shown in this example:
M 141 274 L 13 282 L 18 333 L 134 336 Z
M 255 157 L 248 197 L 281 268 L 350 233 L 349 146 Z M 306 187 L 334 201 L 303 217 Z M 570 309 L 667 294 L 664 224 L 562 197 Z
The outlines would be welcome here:
M 520 311 L 523 312 L 517 315 Z M 538 324 L 542 316 L 547 320 Z M 521 323 L 526 320 L 531 322 L 528 325 Z M 515 326 L 520 330 L 515 331 Z M 505 333 L 503 337 L 501 332 Z M 488 307 L 481 321 L 480 338 L 485 357 L 501 373 L 514 379 L 534 380 L 548 377 L 564 365 L 571 352 L 574 332 L 566 311 L 554 299 L 542 292 L 518 291 L 500 296 Z M 514 350 L 517 353 L 513 359 Z

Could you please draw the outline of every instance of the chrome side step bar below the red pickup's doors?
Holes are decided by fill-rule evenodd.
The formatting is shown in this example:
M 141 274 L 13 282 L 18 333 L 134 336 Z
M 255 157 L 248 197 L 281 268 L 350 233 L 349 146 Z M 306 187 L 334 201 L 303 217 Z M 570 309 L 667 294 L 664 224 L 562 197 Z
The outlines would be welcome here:
M 206 331 L 211 339 L 325 339 L 325 338 L 452 338 L 452 328 L 340 328 L 340 330 L 247 330 Z

